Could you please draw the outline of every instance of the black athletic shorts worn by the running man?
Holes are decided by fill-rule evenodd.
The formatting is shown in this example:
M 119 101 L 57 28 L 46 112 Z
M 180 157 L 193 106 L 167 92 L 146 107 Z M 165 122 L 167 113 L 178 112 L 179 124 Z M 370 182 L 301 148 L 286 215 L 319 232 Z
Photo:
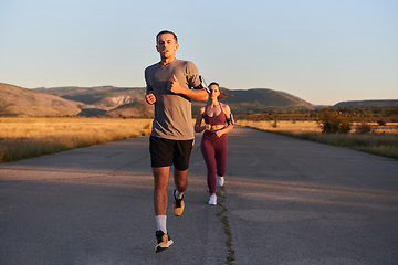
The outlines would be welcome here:
M 192 151 L 192 140 L 169 140 L 149 137 L 150 165 L 153 168 L 174 167 L 180 171 L 188 169 Z

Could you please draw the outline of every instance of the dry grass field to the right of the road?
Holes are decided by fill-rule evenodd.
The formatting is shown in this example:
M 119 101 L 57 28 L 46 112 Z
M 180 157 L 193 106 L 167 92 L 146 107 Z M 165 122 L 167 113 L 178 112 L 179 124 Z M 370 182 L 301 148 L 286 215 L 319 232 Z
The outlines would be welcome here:
M 333 146 L 366 151 L 378 156 L 398 159 L 398 124 L 387 123 L 371 126 L 371 134 L 355 134 L 355 128 L 360 124 L 354 124 L 349 134 L 322 134 L 316 121 L 250 121 L 238 120 L 238 125 L 273 131 L 305 140 L 323 142 Z

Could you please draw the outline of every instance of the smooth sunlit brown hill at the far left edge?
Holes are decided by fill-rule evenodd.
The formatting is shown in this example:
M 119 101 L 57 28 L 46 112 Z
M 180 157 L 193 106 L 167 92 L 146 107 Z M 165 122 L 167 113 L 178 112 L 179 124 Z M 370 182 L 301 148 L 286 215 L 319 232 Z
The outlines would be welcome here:
M 83 106 L 80 102 L 0 83 L 0 115 L 74 116 L 81 113 Z

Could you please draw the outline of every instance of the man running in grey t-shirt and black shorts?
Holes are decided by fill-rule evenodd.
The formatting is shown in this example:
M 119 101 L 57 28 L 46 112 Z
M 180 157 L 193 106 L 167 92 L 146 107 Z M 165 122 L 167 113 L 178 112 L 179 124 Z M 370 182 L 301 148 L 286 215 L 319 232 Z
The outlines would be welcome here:
M 201 85 L 196 65 L 190 61 L 176 59 L 178 47 L 178 40 L 172 31 L 160 31 L 156 36 L 160 62 L 145 70 L 146 100 L 155 105 L 149 152 L 155 178 L 154 206 L 158 226 L 156 252 L 167 250 L 174 243 L 166 229 L 170 166 L 174 166 L 176 184 L 172 191 L 174 212 L 177 216 L 184 212 L 184 192 L 188 184 L 188 166 L 193 145 L 191 99 L 208 100 L 208 93 Z

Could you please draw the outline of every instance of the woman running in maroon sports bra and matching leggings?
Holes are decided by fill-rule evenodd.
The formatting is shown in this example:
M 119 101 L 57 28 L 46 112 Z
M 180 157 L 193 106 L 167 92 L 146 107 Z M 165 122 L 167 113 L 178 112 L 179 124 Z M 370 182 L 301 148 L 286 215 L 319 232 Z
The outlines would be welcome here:
M 233 118 L 230 107 L 220 103 L 228 94 L 222 92 L 216 82 L 209 85 L 209 91 L 210 100 L 205 107 L 199 109 L 195 131 L 200 132 L 205 130 L 200 149 L 207 166 L 207 182 L 210 193 L 209 204 L 216 205 L 216 172 L 218 176 L 217 181 L 222 187 L 228 155 L 227 132 L 233 128 Z M 201 126 L 202 119 L 205 119 L 205 126 Z

